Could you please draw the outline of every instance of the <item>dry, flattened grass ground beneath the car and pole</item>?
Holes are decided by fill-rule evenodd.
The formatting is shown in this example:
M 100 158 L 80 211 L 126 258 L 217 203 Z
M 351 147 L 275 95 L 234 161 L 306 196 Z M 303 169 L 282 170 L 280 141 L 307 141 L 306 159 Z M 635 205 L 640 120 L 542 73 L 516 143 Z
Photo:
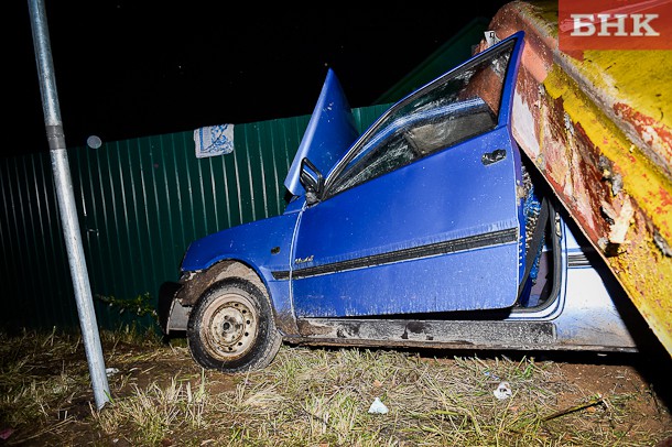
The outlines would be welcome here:
M 198 368 L 183 340 L 124 329 L 101 341 L 119 372 L 96 411 L 79 336 L 0 334 L 0 445 L 653 446 L 672 436 L 654 395 L 596 395 L 562 363 L 523 355 L 283 346 L 261 371 L 223 374 Z M 501 381 L 511 397 L 495 397 Z M 376 397 L 389 413 L 368 413 Z

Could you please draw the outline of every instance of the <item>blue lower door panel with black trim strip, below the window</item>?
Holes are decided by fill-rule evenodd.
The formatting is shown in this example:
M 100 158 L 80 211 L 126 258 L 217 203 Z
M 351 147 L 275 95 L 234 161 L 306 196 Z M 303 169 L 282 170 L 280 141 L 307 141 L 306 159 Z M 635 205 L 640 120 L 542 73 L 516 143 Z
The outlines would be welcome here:
M 495 148 L 509 146 L 506 131 L 495 133 Z M 293 257 L 297 316 L 511 306 L 513 157 L 484 165 L 485 150 L 469 140 L 307 208 Z

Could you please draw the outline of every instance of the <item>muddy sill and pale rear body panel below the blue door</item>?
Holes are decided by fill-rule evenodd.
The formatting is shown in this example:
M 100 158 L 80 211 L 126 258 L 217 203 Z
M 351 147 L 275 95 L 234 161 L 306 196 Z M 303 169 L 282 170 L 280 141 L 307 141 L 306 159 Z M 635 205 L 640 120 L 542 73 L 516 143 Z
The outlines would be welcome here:
M 384 319 L 301 318 L 300 338 L 308 345 L 371 347 L 432 347 L 447 349 L 527 349 L 638 351 L 641 327 L 627 325 L 622 308 L 627 295 L 608 269 L 584 252 L 570 227 L 554 217 L 563 272 L 554 298 L 539 309 L 508 312 L 399 315 Z M 631 332 L 632 331 L 632 332 Z M 639 335 L 639 334 L 638 334 Z

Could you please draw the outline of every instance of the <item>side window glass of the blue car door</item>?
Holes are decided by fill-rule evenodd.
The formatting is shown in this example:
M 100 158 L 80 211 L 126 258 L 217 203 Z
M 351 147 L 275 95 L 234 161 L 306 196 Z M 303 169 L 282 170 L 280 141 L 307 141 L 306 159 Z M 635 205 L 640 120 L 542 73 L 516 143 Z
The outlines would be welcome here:
M 388 110 L 336 165 L 324 198 L 495 129 L 513 46 L 475 57 Z

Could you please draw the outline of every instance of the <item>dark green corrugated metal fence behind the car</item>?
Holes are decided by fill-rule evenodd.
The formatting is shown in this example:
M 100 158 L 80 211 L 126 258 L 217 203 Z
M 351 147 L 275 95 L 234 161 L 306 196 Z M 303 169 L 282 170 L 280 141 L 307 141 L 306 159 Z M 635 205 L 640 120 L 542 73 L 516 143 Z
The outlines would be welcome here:
M 360 131 L 388 106 L 354 109 Z M 235 150 L 196 159 L 193 132 L 68 149 L 99 326 L 153 325 L 159 286 L 194 239 L 284 210 L 310 117 L 235 126 Z M 48 153 L 0 160 L 0 326 L 79 326 Z

